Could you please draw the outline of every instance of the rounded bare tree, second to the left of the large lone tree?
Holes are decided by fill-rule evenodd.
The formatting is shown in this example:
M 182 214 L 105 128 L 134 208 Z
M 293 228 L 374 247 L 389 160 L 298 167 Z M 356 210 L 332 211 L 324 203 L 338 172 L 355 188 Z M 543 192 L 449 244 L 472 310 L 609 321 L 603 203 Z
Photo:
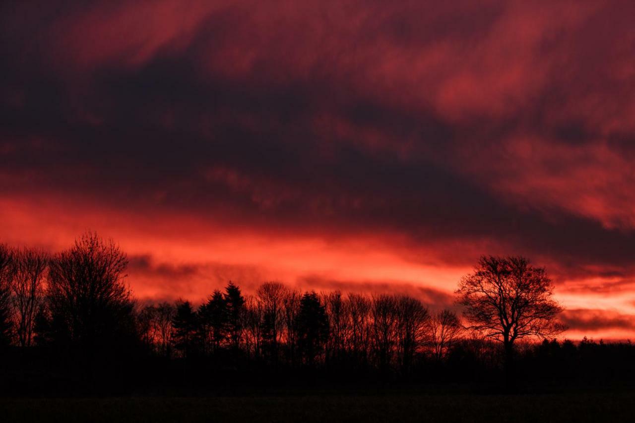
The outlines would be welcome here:
M 415 352 L 422 345 L 430 319 L 428 309 L 420 300 L 400 295 L 396 298 L 397 356 L 404 375 L 410 372 Z

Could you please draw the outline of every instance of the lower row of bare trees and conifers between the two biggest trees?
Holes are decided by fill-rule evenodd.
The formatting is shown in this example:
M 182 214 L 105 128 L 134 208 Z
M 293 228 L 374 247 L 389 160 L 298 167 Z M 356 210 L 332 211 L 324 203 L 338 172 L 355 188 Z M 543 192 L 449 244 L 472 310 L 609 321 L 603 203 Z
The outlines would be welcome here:
M 246 297 L 230 282 L 199 307 L 182 300 L 145 305 L 138 319 L 145 344 L 165 356 L 229 351 L 272 365 L 349 363 L 402 372 L 423 349 L 441 359 L 462 332 L 454 312 L 430 313 L 406 295 L 302 293 L 276 282 Z

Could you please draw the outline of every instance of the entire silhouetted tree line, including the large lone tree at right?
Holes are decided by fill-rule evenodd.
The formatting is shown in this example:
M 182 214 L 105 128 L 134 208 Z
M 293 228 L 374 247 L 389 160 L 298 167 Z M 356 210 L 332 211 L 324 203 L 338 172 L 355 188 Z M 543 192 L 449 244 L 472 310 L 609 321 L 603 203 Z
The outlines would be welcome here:
M 245 295 L 230 281 L 200 305 L 142 304 L 125 283 L 127 264 L 114 241 L 94 233 L 55 255 L 0 245 L 0 349 L 36 351 L 29 354 L 47 365 L 89 377 L 126 361 L 405 379 L 424 368 L 429 375 L 502 368 L 509 382 L 514 363 L 526 364 L 527 351 L 530 358 L 555 351 L 565 330 L 545 269 L 523 257 L 482 257 L 459 281 L 462 314 L 431 311 L 408 295 L 300 292 L 277 282 Z M 544 344 L 519 348 L 523 339 Z

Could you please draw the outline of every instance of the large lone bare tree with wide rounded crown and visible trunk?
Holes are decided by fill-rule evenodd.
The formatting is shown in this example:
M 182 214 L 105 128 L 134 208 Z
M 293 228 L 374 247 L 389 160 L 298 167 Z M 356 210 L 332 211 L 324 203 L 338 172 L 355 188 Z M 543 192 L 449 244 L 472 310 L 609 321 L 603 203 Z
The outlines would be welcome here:
M 563 309 L 552 292 L 545 269 L 524 257 L 481 257 L 458 285 L 458 304 L 465 307 L 469 328 L 504 346 L 508 382 L 516 340 L 544 339 L 565 329 L 556 321 Z

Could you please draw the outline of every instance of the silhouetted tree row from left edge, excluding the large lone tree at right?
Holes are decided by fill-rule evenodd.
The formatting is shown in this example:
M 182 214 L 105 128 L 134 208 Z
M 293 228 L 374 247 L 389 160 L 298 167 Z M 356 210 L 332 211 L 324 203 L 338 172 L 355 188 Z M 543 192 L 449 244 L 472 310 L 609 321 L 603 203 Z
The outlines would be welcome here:
M 49 257 L 0 246 L 4 346 L 58 346 L 97 354 L 136 340 L 166 358 L 231 352 L 276 365 L 340 362 L 407 372 L 426 349 L 441 359 L 463 332 L 455 312 L 431 313 L 407 295 L 300 292 L 277 282 L 244 295 L 231 281 L 197 307 L 140 304 L 124 283 L 126 255 L 85 234 Z

